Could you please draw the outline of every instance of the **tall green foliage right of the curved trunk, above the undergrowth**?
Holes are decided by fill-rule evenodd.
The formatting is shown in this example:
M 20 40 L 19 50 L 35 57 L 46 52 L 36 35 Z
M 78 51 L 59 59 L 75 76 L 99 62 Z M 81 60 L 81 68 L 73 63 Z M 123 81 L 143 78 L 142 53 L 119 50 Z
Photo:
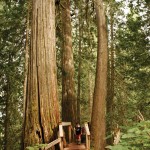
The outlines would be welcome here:
M 110 116 L 114 124 L 124 125 L 132 122 L 137 110 L 150 119 L 149 12 L 143 0 L 120 2 L 124 3 L 120 10 L 124 6 L 129 12 L 119 10 L 114 16 L 115 95 Z

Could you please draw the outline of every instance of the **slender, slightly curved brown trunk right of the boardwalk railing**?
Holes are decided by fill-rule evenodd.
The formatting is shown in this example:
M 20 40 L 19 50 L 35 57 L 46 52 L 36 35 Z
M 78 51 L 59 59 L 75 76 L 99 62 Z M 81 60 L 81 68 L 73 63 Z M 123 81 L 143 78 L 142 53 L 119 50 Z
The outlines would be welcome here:
M 97 69 L 92 109 L 94 150 L 105 149 L 105 113 L 107 86 L 107 32 L 102 0 L 95 0 L 98 27 Z

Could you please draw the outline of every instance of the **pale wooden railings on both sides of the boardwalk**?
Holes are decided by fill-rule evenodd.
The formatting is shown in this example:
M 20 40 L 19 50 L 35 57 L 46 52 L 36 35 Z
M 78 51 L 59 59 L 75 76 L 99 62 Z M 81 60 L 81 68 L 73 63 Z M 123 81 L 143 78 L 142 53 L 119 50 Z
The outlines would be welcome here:
M 60 150 L 64 150 L 64 131 L 63 131 L 63 126 L 68 126 L 68 133 L 69 133 L 69 143 L 71 142 L 71 122 L 61 122 L 59 123 L 59 133 L 58 133 L 58 139 L 54 140 L 53 142 L 49 143 L 44 149 L 42 150 L 48 150 L 49 148 L 55 146 L 56 144 L 59 144 Z M 84 124 L 85 127 L 85 132 L 86 132 L 86 149 L 90 150 L 90 131 L 88 124 Z

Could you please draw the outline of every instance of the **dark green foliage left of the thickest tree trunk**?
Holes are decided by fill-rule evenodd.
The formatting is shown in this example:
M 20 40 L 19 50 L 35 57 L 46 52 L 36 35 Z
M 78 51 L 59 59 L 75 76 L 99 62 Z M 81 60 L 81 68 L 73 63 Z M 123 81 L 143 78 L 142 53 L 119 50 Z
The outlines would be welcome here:
M 25 14 L 17 2 L 0 10 L 0 149 L 20 149 Z

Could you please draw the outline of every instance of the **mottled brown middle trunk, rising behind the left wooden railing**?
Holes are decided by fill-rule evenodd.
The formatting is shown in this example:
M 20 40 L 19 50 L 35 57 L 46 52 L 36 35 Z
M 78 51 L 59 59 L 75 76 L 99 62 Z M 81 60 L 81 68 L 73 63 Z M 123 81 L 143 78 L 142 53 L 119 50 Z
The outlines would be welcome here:
M 74 84 L 74 60 L 72 51 L 70 0 L 62 0 L 62 120 L 76 121 L 76 98 Z

